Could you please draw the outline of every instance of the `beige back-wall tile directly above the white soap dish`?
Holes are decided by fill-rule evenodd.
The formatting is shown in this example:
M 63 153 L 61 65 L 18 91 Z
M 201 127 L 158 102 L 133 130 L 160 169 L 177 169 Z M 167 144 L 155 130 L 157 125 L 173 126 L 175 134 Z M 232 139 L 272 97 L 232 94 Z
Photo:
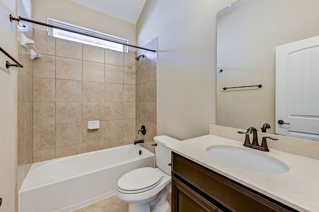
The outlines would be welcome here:
M 83 122 L 105 120 L 104 102 L 83 102 Z

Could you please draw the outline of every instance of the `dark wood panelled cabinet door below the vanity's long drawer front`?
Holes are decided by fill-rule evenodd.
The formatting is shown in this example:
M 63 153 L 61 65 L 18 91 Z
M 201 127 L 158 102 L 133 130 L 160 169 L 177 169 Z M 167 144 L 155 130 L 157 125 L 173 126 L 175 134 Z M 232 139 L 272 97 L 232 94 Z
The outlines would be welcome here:
M 218 212 L 217 207 L 172 177 L 172 212 Z

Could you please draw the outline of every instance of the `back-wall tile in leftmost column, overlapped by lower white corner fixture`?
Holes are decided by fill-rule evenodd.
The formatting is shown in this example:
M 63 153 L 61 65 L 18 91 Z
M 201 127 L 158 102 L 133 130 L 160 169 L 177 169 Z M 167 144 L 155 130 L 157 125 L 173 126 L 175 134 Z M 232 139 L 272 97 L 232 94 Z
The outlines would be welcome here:
M 33 60 L 33 77 L 55 78 L 55 56 L 41 54 Z

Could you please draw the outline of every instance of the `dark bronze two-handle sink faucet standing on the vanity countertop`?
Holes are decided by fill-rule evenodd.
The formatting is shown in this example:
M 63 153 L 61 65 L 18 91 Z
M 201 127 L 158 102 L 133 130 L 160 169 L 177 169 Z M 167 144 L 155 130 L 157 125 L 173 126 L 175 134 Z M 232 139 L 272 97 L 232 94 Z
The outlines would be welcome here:
M 261 145 L 259 145 L 257 129 L 254 127 L 248 128 L 246 133 L 240 132 L 240 131 L 238 131 L 237 133 L 246 135 L 245 142 L 243 144 L 244 146 L 247 146 L 249 148 L 258 149 L 261 151 L 269 151 L 267 141 L 266 141 L 267 139 L 278 140 L 278 139 L 273 138 L 273 137 L 265 136 L 265 137 L 263 137 L 263 141 L 262 141 Z M 249 134 L 253 134 L 253 142 L 252 143 L 250 143 Z

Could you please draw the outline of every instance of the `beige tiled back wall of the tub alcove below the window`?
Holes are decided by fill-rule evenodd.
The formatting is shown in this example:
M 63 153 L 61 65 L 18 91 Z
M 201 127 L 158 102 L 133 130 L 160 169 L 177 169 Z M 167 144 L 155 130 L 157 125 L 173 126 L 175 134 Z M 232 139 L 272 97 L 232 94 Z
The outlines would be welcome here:
M 136 139 L 136 57 L 34 29 L 33 162 Z M 99 120 L 100 129 L 87 122 Z

